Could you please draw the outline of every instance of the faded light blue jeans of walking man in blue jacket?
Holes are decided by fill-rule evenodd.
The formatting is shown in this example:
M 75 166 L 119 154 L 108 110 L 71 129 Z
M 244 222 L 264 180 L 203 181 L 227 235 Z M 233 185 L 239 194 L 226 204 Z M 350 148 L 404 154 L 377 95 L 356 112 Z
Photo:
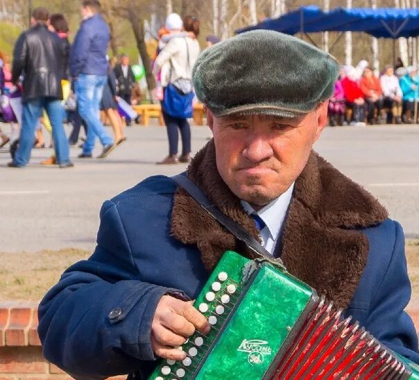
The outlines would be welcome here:
M 84 154 L 92 154 L 96 136 L 98 136 L 103 147 L 114 142 L 110 135 L 106 133 L 99 117 L 103 87 L 107 80 L 108 77 L 105 75 L 80 74 L 74 82 L 78 113 L 87 124 L 87 138 L 85 144 L 83 144 Z

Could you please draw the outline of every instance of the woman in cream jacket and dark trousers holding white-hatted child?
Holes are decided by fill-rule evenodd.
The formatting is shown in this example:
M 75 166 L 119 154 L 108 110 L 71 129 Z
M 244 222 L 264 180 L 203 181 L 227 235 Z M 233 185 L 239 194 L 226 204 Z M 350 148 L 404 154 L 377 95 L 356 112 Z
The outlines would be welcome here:
M 172 13 L 166 19 L 166 29 L 180 30 L 182 19 L 179 15 Z M 183 20 L 183 28 L 187 32 L 193 32 L 195 38 L 189 36 L 172 38 L 160 54 L 157 56 L 153 72 L 157 74 L 161 69 L 161 82 L 164 88 L 164 96 L 167 97 L 167 86 L 182 81 L 183 84 L 191 81 L 192 67 L 199 55 L 199 43 L 196 38 L 199 35 L 199 21 L 196 17 L 187 16 Z M 190 91 L 192 86 L 190 85 Z M 162 114 L 166 123 L 167 136 L 169 138 L 169 156 L 157 164 L 189 163 L 191 160 L 191 128 L 186 117 L 171 115 L 169 110 L 164 109 L 162 103 Z M 182 135 L 182 155 L 178 158 L 178 129 Z

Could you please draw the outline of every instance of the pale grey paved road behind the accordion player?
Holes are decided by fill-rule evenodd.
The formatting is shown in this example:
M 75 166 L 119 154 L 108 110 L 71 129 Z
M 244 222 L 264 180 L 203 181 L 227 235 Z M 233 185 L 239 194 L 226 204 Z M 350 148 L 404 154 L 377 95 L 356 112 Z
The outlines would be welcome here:
M 127 142 L 105 160 L 74 158 L 76 167 L 69 170 L 38 165 L 50 149 L 34 150 L 24 169 L 4 167 L 10 157 L 0 153 L 0 251 L 91 250 L 105 199 L 146 176 L 185 169 L 155 165 L 166 155 L 165 129 L 136 126 L 127 135 Z M 210 131 L 194 127 L 192 135 L 197 151 Z M 419 236 L 419 126 L 329 128 L 316 149 L 373 192 L 408 236 Z M 71 150 L 71 156 L 77 154 L 78 149 Z

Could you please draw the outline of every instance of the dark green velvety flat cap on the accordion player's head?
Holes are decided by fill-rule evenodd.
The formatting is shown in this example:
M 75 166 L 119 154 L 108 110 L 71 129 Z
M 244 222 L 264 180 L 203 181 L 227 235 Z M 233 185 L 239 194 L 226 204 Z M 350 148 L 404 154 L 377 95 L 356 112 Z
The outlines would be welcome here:
M 192 80 L 215 116 L 298 117 L 332 96 L 338 74 L 329 53 L 291 35 L 258 30 L 203 51 Z

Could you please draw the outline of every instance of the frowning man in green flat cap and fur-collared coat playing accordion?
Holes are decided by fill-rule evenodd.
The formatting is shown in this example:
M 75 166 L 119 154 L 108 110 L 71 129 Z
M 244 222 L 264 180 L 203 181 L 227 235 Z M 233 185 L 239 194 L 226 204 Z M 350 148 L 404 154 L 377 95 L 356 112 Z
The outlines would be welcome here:
M 185 175 L 291 274 L 419 363 L 402 227 L 312 150 L 338 71 L 328 53 L 273 31 L 206 49 L 193 81 L 214 138 Z M 40 304 L 44 356 L 76 379 L 147 379 L 157 358 L 184 360 L 179 346 L 210 330 L 189 300 L 223 252 L 255 256 L 166 176 L 105 201 L 100 216 L 92 256 Z

